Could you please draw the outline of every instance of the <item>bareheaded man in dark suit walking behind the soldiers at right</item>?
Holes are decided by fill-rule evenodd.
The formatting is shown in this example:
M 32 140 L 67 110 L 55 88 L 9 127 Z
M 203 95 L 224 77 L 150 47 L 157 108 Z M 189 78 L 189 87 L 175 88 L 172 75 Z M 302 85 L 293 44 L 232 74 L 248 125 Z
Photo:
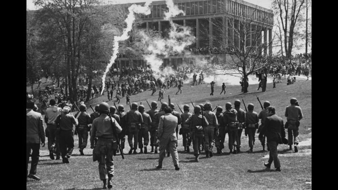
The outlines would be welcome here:
M 262 136 L 265 135 L 270 147 L 269 161 L 267 164 L 264 163 L 264 166 L 270 168 L 273 161 L 276 171 L 281 171 L 281 164 L 277 157 L 277 146 L 278 144 L 282 144 L 281 138 L 285 138 L 283 126 L 283 119 L 276 115 L 275 108 L 269 107 L 268 117 L 265 120 L 265 125 L 259 134 L 259 138 L 263 138 Z

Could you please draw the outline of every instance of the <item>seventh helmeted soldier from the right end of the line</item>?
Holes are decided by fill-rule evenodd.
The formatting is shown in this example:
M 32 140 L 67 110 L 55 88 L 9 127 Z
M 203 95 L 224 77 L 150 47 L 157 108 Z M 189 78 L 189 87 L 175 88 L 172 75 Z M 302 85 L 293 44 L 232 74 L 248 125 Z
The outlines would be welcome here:
M 207 102 L 204 104 L 204 117 L 207 119 L 209 125 L 204 127 L 204 150 L 206 150 L 206 157 L 213 157 L 213 141 L 214 141 L 214 134 L 216 136 L 219 135 L 218 131 L 218 121 L 216 118 L 216 114 L 212 112 L 211 103 Z

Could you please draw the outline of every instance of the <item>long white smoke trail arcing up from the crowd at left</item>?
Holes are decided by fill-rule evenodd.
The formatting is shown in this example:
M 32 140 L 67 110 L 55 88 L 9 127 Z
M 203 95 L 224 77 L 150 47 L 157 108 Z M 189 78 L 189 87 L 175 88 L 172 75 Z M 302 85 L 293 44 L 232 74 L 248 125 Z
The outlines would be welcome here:
M 134 13 L 149 15 L 150 14 L 149 5 L 151 4 L 151 2 L 152 2 L 151 0 L 147 0 L 146 3 L 144 4 L 144 6 L 132 4 L 128 8 L 129 14 L 128 14 L 127 18 L 124 20 L 127 23 L 127 27 L 123 29 L 123 33 L 122 33 L 121 36 L 114 36 L 113 55 L 110 58 L 110 63 L 107 65 L 106 70 L 104 71 L 103 76 L 102 76 L 101 95 L 102 95 L 104 88 L 105 88 L 106 74 L 108 73 L 109 69 L 112 67 L 113 63 L 115 62 L 115 60 L 117 58 L 117 54 L 119 53 L 119 42 L 127 40 L 129 38 L 128 32 L 131 30 L 132 24 L 135 21 Z

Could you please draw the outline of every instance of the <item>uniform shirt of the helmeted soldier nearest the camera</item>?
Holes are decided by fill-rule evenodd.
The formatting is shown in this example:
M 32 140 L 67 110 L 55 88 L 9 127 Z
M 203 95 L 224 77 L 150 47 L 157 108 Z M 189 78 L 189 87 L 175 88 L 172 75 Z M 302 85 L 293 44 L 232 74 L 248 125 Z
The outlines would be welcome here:
M 115 123 L 115 128 L 117 133 L 121 133 L 121 126 L 112 118 L 113 123 Z M 101 114 L 98 118 L 94 119 L 92 125 L 92 132 L 90 135 L 90 144 L 94 145 L 95 137 L 102 138 L 113 138 L 114 141 L 117 139 L 113 135 L 113 127 L 110 121 L 110 117 L 107 114 Z

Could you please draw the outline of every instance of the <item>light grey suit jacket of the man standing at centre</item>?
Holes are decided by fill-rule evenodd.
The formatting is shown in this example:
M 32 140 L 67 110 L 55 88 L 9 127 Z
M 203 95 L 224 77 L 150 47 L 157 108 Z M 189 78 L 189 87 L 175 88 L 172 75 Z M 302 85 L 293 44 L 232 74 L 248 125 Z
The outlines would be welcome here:
M 171 113 L 161 116 L 157 137 L 160 140 L 170 138 L 171 141 L 177 141 L 175 132 L 177 123 L 177 117 Z

